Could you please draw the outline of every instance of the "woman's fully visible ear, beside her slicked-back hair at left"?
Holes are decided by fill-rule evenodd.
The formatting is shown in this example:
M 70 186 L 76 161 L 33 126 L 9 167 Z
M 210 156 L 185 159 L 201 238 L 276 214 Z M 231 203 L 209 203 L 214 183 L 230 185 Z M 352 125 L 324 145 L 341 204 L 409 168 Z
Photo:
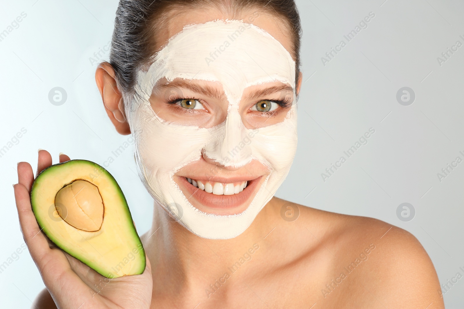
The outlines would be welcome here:
M 124 102 L 116 85 L 115 71 L 110 63 L 103 62 L 98 65 L 95 81 L 102 95 L 106 114 L 110 117 L 116 131 L 122 135 L 130 134 L 129 123 L 124 112 Z

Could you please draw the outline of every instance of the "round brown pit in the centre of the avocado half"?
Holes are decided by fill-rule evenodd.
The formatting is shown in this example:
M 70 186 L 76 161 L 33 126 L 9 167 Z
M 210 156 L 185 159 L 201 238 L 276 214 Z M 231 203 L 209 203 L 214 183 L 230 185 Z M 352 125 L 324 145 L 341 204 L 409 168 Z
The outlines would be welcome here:
M 97 186 L 88 181 L 75 180 L 60 189 L 55 207 L 63 220 L 77 229 L 95 232 L 102 227 L 102 196 Z

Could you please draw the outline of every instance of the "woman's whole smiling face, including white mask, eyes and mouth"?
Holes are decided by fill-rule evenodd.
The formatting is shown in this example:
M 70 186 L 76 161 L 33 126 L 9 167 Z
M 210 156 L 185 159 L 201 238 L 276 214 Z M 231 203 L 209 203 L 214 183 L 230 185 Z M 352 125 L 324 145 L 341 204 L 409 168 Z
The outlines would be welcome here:
M 227 23 L 214 11 L 170 15 L 129 116 L 139 169 L 155 199 L 193 233 L 235 237 L 295 153 L 291 36 L 264 13 Z

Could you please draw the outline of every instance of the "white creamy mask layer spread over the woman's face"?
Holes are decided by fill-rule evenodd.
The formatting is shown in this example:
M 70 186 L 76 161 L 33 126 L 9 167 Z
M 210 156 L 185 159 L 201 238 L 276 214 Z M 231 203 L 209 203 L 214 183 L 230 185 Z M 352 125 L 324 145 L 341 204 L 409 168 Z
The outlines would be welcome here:
M 220 82 L 229 101 L 226 121 L 200 128 L 162 120 L 148 99 L 163 77 Z M 295 94 L 285 120 L 271 126 L 247 129 L 238 111 L 245 88 L 275 81 L 295 88 L 290 53 L 269 33 L 238 20 L 184 27 L 156 54 L 148 71 L 138 73 L 135 95 L 126 109 L 140 177 L 156 202 L 168 211 L 177 208 L 179 223 L 192 233 L 209 239 L 238 236 L 287 176 L 297 142 Z M 234 167 L 256 159 L 271 171 L 244 212 L 208 214 L 188 202 L 173 176 L 202 154 Z

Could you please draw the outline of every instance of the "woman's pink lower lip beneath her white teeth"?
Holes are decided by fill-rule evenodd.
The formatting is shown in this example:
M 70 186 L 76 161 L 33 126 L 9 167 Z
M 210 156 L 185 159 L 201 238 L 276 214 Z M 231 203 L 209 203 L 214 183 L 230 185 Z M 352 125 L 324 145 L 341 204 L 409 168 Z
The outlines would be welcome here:
M 212 208 L 212 209 L 217 209 L 217 210 L 231 210 L 231 209 L 236 208 L 236 210 L 239 210 L 238 208 L 240 208 L 240 206 L 245 205 L 245 203 L 250 198 L 254 197 L 256 188 L 261 183 L 260 180 L 262 177 L 263 176 L 260 176 L 256 179 L 249 180 L 246 188 L 243 189 L 242 192 L 238 194 L 233 194 L 233 195 L 215 195 L 213 193 L 208 193 L 204 190 L 194 187 L 191 183 L 187 181 L 185 177 L 179 177 L 180 178 L 179 182 L 180 182 L 180 185 L 186 188 L 187 192 L 190 193 L 190 197 L 187 196 L 188 200 L 193 198 L 196 201 L 198 201 L 200 205 L 203 205 L 206 208 Z M 235 212 L 235 214 L 241 213 L 245 211 L 245 209 Z M 204 211 L 203 209 L 199 209 L 199 210 Z

